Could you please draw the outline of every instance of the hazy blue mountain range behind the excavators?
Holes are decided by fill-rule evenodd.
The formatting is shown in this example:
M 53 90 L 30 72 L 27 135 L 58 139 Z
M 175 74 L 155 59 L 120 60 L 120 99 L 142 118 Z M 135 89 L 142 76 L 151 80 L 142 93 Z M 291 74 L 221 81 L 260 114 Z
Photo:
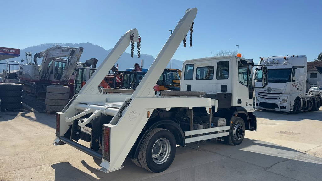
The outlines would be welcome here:
M 44 43 L 40 45 L 30 46 L 20 50 L 20 57 L 11 58 L 9 60 L 18 61 L 20 62 L 21 59 L 25 59 L 25 52 L 32 52 L 32 55 L 35 53 L 39 53 L 47 48 L 52 47 L 53 45 L 62 45 L 62 46 L 71 46 L 71 47 L 83 47 L 83 53 L 81 54 L 80 62 L 85 62 L 90 58 L 96 58 L 99 60 L 97 63 L 97 67 L 100 65 L 101 62 L 106 58 L 109 52 L 112 49 L 105 50 L 99 45 L 94 45 L 92 43 Z M 140 58 L 137 57 L 137 54 L 134 54 L 133 58 L 131 57 L 130 53 L 124 52 L 121 57 L 118 59 L 116 65 L 118 64 L 118 70 L 125 70 L 127 68 L 133 68 L 135 63 L 140 64 L 141 60 L 144 60 L 144 67 L 143 68 L 150 68 L 152 62 L 154 61 L 155 57 L 148 54 L 140 55 Z M 0 63 L 5 63 L 4 61 L 0 61 Z M 38 64 L 41 64 L 41 60 L 38 60 Z M 172 59 L 172 68 L 174 69 L 182 69 L 183 61 Z M 115 66 L 116 66 L 115 65 Z M 168 64 L 167 68 L 170 68 L 170 63 Z

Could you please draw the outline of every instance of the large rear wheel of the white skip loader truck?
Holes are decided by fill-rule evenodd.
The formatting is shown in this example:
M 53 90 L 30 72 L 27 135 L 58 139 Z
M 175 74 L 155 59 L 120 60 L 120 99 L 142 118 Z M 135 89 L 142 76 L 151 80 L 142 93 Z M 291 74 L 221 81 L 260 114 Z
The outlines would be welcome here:
M 157 153 L 157 157 L 161 157 L 159 160 L 156 158 L 153 159 L 152 157 L 152 148 L 154 148 L 155 145 L 156 149 L 154 149 L 154 153 Z M 163 154 L 163 152 L 158 152 L 162 151 L 162 149 L 167 150 L 166 154 Z M 144 139 L 138 155 L 138 161 L 140 165 L 146 170 L 154 173 L 159 173 L 165 171 L 168 167 L 170 167 L 170 165 L 173 162 L 173 159 L 175 158 L 175 152 L 176 141 L 173 134 L 166 129 L 155 128 Z M 157 164 L 157 161 L 162 162 Z

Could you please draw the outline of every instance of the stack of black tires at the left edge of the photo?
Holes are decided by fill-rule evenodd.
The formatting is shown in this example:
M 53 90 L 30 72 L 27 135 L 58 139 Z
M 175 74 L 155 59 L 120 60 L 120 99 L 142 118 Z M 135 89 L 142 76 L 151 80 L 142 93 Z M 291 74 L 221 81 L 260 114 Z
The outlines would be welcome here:
M 1 110 L 22 110 L 22 84 L 0 83 Z

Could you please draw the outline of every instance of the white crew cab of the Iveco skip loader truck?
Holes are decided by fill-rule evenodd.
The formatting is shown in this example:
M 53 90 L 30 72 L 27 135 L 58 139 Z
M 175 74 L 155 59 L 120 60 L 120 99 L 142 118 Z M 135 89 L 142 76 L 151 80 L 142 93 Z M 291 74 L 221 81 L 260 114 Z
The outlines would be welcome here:
M 224 93 L 229 106 L 242 107 L 247 112 L 255 110 L 252 59 L 237 56 L 207 57 L 185 61 L 183 64 L 182 91 L 204 91 L 216 97 Z M 226 102 L 219 102 L 219 104 Z M 218 108 L 221 107 L 218 105 Z

